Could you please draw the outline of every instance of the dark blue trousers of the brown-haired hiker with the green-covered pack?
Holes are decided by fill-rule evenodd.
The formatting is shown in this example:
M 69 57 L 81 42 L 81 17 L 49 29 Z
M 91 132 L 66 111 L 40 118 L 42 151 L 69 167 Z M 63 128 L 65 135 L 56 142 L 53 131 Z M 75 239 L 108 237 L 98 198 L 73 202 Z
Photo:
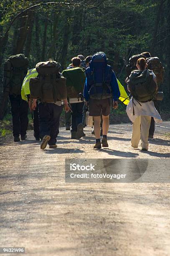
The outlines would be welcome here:
M 77 125 L 83 122 L 84 102 L 71 103 L 72 110 L 72 131 L 77 131 Z

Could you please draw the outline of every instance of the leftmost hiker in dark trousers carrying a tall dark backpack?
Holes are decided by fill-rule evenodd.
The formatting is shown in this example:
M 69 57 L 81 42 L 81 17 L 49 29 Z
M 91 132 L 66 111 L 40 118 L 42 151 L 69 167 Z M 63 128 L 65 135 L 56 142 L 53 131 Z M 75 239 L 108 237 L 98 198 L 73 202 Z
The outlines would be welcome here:
M 3 92 L 9 92 L 14 141 L 26 139 L 28 102 L 21 98 L 21 86 L 27 71 L 28 59 L 24 54 L 10 56 L 4 63 Z

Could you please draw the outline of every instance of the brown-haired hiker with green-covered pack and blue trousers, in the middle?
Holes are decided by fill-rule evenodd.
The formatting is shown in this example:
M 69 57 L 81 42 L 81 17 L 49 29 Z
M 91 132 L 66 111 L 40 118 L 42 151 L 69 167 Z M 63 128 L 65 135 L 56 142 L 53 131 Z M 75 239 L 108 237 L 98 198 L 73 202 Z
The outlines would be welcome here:
M 73 68 L 63 70 L 67 85 L 67 96 L 72 111 L 71 138 L 79 139 L 85 136 L 83 132 L 83 107 L 84 102 L 79 100 L 79 93 L 83 92 L 85 82 L 85 72 L 81 68 L 81 60 L 74 57 L 72 60 Z

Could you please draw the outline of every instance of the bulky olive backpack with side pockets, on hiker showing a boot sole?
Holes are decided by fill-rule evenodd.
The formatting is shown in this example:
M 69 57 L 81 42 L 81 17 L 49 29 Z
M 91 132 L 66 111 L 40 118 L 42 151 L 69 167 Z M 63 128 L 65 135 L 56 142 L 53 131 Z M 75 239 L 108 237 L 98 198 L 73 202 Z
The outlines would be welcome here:
M 41 102 L 56 102 L 67 97 L 66 79 L 59 73 L 61 65 L 56 61 L 36 64 L 38 77 L 30 79 L 30 97 Z

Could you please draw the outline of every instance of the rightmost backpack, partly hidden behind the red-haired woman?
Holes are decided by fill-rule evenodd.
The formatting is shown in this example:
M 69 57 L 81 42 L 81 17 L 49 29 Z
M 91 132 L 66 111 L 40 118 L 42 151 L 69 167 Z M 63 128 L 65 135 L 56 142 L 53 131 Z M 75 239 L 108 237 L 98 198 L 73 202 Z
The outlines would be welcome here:
M 163 82 L 165 69 L 158 57 L 147 58 L 148 69 L 152 70 L 156 76 L 158 85 Z

